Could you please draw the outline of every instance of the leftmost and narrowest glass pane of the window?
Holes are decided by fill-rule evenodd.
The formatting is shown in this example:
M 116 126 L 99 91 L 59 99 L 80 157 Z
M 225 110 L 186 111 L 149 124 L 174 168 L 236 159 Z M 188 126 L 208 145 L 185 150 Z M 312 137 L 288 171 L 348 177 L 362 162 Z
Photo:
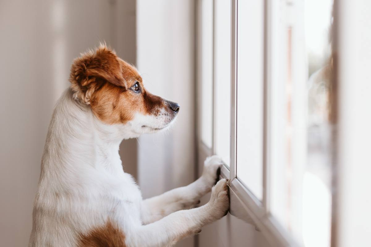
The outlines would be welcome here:
M 202 0 L 201 140 L 212 147 L 213 135 L 213 0 Z

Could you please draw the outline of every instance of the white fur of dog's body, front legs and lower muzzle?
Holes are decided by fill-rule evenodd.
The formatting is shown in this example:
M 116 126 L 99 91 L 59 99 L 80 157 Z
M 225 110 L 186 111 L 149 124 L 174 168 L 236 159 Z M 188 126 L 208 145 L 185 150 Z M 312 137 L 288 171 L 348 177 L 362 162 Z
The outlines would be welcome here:
M 142 200 L 132 176 L 122 170 L 119 144 L 166 128 L 171 120 L 161 114 L 137 115 L 128 124 L 107 125 L 72 94 L 66 90 L 50 122 L 30 247 L 76 246 L 79 234 L 107 220 L 124 232 L 128 247 L 171 246 L 224 215 L 229 207 L 226 180 L 213 188 L 209 203 L 192 208 L 213 186 L 220 158 L 207 159 L 194 183 Z M 183 210 L 187 208 L 192 209 Z

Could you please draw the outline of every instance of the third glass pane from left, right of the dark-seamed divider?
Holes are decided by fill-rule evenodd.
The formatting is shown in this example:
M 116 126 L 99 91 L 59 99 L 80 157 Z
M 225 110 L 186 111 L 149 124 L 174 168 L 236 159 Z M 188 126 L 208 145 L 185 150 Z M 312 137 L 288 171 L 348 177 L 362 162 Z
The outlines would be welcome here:
M 237 9 L 237 178 L 260 200 L 263 197 L 263 3 L 239 1 Z

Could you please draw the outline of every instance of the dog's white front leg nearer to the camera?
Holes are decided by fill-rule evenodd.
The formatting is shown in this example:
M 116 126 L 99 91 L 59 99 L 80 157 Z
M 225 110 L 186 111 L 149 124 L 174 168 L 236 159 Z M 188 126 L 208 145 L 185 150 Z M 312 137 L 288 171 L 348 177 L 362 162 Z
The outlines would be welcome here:
M 226 215 L 229 208 L 228 184 L 220 180 L 204 206 L 172 213 L 154 223 L 141 226 L 128 234 L 128 247 L 172 246 L 178 240 L 194 235 L 201 227 Z

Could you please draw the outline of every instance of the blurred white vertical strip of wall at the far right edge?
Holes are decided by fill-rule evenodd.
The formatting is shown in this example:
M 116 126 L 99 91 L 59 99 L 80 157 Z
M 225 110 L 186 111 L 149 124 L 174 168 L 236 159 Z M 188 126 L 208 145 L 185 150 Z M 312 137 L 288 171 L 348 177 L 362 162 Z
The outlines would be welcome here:
M 371 2 L 335 1 L 338 56 L 336 246 L 371 246 Z

